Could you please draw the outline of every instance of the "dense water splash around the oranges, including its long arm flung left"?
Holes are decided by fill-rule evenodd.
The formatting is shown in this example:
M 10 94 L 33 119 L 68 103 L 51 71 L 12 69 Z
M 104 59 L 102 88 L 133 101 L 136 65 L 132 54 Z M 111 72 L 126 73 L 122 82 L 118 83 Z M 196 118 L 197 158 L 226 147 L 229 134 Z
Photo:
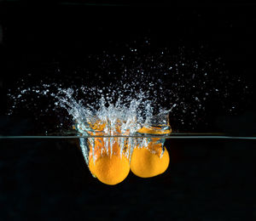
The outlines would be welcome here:
M 53 85 L 55 86 L 54 89 Z M 123 89 L 123 90 L 122 90 Z M 169 112 L 157 104 L 157 98 L 151 98 L 150 90 L 143 92 L 134 85 L 125 84 L 122 89 L 114 88 L 60 88 L 56 84 L 44 84 L 40 89 L 27 88 L 20 93 L 38 94 L 55 99 L 55 107 L 66 110 L 73 118 L 73 128 L 78 135 L 90 136 L 127 136 L 112 138 L 79 139 L 84 159 L 89 164 L 90 155 L 96 161 L 96 153 L 106 152 L 113 155 L 113 146 L 119 146 L 120 156 L 131 161 L 134 148 L 148 148 L 153 144 L 159 145 L 158 150 L 150 149 L 161 157 L 164 153 L 165 139 L 131 138 L 136 134 L 157 134 L 158 137 L 171 133 Z M 54 92 L 53 92 L 54 91 Z M 129 95 L 124 95 L 129 91 Z M 86 99 L 89 93 L 94 94 L 93 103 Z M 79 99 L 79 95 L 81 99 Z M 19 96 L 18 99 L 22 97 Z M 53 109 L 56 111 L 56 109 Z M 100 150 L 99 150 L 100 149 Z M 159 150 L 161 150 L 159 152 Z

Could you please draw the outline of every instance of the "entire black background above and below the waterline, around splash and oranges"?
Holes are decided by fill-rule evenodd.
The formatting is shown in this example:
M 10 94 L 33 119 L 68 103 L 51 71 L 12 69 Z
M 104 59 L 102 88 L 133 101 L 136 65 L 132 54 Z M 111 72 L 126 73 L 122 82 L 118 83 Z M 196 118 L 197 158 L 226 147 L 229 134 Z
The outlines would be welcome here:
M 140 35 L 159 45 L 206 45 L 209 57 L 221 57 L 230 73 L 255 88 L 255 10 L 254 3 L 238 2 L 1 2 L 0 127 L 20 133 L 29 125 L 21 119 L 11 127 L 3 116 L 15 80 L 31 70 L 44 75 L 53 65 L 72 69 L 83 63 L 83 54 Z M 240 116 L 225 118 L 218 127 L 249 134 L 255 133 L 254 125 L 250 101 Z M 90 176 L 74 141 L 1 140 L 0 219 L 255 218 L 253 142 L 167 142 L 172 167 L 166 173 L 150 179 L 130 174 L 109 187 Z

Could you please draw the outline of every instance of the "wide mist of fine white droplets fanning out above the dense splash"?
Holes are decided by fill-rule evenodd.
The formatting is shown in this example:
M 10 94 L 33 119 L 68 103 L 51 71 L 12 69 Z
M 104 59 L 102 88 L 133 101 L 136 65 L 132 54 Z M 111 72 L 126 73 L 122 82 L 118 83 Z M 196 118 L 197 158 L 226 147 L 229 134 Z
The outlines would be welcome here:
M 57 130 L 84 117 L 102 120 L 113 109 L 119 110 L 119 117 L 136 110 L 140 125 L 148 116 L 172 108 L 171 126 L 183 132 L 207 127 L 214 111 L 236 114 L 249 94 L 248 85 L 228 74 L 219 58 L 206 60 L 186 48 L 157 48 L 146 38 L 117 48 L 84 56 L 84 65 L 70 68 L 60 62 L 49 75 L 24 77 L 9 93 L 9 114 L 31 111 L 38 122 L 55 116 Z M 52 126 L 44 122 L 47 127 Z

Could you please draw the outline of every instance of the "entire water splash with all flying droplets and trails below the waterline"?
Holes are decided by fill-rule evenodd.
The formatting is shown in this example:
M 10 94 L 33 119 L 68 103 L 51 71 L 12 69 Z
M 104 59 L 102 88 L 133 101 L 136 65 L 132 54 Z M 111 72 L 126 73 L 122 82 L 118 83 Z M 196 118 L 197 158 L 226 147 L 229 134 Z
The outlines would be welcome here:
M 38 82 L 38 85 L 28 87 L 26 81 L 29 77 L 21 79 L 16 94 L 9 94 L 12 100 L 9 114 L 20 109 L 30 110 L 41 128 L 44 125 L 48 131 L 49 127 L 58 124 L 55 120 L 58 118 L 58 129 L 73 125 L 76 133 L 82 135 L 129 136 L 170 133 L 168 113 L 172 111 L 170 116 L 175 131 L 191 132 L 199 123 L 206 127 L 204 117 L 207 112 L 210 116 L 212 109 L 236 112 L 239 100 L 231 98 L 241 100 L 249 94 L 247 84 L 240 77 L 228 76 L 219 59 L 204 62 L 193 53 L 186 56 L 183 49 L 177 56 L 168 48 L 152 49 L 151 46 L 147 40 L 127 44 L 123 48 L 124 54 L 107 51 L 90 54 L 86 68 L 76 67 L 73 75 L 63 76 L 61 67 L 56 67 L 54 77 L 60 76 L 61 83 L 57 83 L 53 75 L 39 81 L 36 76 L 32 82 Z M 62 79 L 82 86 L 65 88 Z M 63 110 L 67 110 L 68 116 Z M 51 123 L 45 125 L 41 116 L 52 116 Z M 80 139 L 84 157 L 88 158 L 88 147 L 96 151 L 97 141 L 101 139 Z M 101 142 L 109 153 L 113 151 L 113 144 L 119 144 L 120 151 L 131 156 L 132 148 L 148 146 L 151 141 L 102 138 Z M 154 141 L 164 142 L 161 139 Z

